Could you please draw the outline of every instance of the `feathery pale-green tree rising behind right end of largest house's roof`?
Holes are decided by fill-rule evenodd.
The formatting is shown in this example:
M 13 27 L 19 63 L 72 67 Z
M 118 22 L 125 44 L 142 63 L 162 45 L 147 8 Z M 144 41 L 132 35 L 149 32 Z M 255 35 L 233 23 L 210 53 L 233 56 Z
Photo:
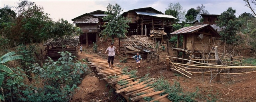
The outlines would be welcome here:
M 176 22 L 178 22 L 179 20 L 185 20 L 186 10 L 183 10 L 183 6 L 181 6 L 179 2 L 175 4 L 170 3 L 165 10 L 165 14 L 167 15 L 173 14 L 172 16 L 177 18 Z

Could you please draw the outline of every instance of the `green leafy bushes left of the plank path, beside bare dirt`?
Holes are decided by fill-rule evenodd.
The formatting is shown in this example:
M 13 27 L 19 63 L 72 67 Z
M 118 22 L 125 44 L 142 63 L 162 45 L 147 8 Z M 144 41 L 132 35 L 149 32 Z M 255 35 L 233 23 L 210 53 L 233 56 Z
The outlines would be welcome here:
M 73 60 L 68 52 L 61 52 L 61 58 L 53 61 L 48 58 L 43 67 L 35 64 L 31 68 L 33 82 L 26 81 L 27 75 L 22 69 L 13 69 L 15 74 L 8 75 L 2 86 L 6 102 L 37 101 L 66 102 L 74 94 L 83 75 L 89 73 L 86 65 Z

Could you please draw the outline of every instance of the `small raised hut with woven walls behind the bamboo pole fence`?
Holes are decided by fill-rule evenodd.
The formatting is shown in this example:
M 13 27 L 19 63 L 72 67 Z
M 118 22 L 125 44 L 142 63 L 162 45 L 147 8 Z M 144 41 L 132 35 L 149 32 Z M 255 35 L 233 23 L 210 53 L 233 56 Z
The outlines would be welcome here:
M 183 59 L 185 57 L 185 53 L 192 53 L 193 55 L 210 53 L 214 44 L 214 38 L 221 37 L 209 24 L 183 27 L 171 34 L 178 35 L 177 48 L 172 49 L 177 50 L 177 53 L 180 51 L 183 52 Z M 178 46 L 180 43 L 180 35 L 183 35 L 182 47 Z M 179 54 L 177 54 L 177 57 L 179 57 Z

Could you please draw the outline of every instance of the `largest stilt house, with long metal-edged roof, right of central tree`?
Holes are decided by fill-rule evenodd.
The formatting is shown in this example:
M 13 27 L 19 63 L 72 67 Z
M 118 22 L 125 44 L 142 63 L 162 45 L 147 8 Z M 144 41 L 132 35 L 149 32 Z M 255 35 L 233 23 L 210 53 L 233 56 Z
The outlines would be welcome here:
M 150 35 L 150 30 L 154 28 L 164 28 L 164 32 L 173 32 L 172 24 L 175 17 L 171 15 L 165 15 L 162 12 L 155 10 L 154 8 L 138 8 L 124 12 L 122 16 L 130 20 L 128 33 L 126 35 Z M 161 39 L 163 36 L 154 36 L 152 39 Z

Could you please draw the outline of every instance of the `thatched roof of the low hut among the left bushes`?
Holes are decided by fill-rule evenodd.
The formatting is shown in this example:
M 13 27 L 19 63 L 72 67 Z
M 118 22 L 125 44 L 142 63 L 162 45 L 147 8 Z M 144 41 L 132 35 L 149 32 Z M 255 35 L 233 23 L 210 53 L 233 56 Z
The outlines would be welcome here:
M 77 47 L 78 43 L 79 43 L 79 36 L 70 37 L 69 39 L 63 39 L 63 45 L 65 45 L 67 48 Z M 47 46 L 53 45 L 54 47 L 61 47 L 61 40 L 49 39 L 44 43 L 44 45 L 47 45 Z

